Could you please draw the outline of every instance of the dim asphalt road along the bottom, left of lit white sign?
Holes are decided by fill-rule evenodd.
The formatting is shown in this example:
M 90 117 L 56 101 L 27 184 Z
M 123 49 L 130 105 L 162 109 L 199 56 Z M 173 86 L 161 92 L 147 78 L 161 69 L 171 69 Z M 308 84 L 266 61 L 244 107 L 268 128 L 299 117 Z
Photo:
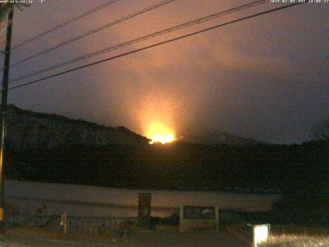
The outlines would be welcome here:
M 56 239 L 47 237 L 3 236 L 0 247 L 246 247 L 247 244 L 227 232 L 219 233 L 179 233 L 153 231 L 133 233 L 130 241 L 108 240 L 88 241 L 87 239 Z

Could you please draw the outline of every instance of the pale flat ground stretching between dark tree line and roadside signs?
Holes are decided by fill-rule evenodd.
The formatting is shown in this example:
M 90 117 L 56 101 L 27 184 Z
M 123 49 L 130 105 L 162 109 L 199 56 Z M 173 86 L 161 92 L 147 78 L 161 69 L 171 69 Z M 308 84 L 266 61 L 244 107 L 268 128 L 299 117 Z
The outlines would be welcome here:
M 279 195 L 215 191 L 139 190 L 97 186 L 5 181 L 5 202 L 19 213 L 35 214 L 47 202 L 46 214 L 96 217 L 137 217 L 138 193 L 151 193 L 152 216 L 179 213 L 179 206 L 267 211 Z

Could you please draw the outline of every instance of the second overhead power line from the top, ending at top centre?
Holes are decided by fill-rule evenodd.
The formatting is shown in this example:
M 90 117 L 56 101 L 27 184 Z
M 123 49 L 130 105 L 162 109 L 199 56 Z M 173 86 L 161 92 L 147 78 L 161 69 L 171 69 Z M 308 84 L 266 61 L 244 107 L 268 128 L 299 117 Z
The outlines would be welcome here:
M 117 0 L 117 1 L 118 1 L 118 0 Z M 124 17 L 121 17 L 121 18 L 118 19 L 118 20 L 115 20 L 115 21 L 113 21 L 113 22 L 107 23 L 107 24 L 105 24 L 105 25 L 103 25 L 103 26 L 100 26 L 100 27 L 98 27 L 98 28 L 95 28 L 95 29 L 93 29 L 93 30 L 90 30 L 90 31 L 88 31 L 88 32 L 85 32 L 85 33 L 79 35 L 78 37 L 72 38 L 72 39 L 70 39 L 70 40 L 64 41 L 64 42 L 59 43 L 59 44 L 57 44 L 57 45 L 54 45 L 54 46 L 52 46 L 52 47 L 50 47 L 50 48 L 48 48 L 48 49 L 42 50 L 42 51 L 40 51 L 40 52 L 37 52 L 36 54 L 33 54 L 33 55 L 31 55 L 31 56 L 29 56 L 29 57 L 27 57 L 27 58 L 24 58 L 24 59 L 22 59 L 22 60 L 20 60 L 20 61 L 18 61 L 18 62 L 16 62 L 16 63 L 11 64 L 10 67 L 14 67 L 14 66 L 16 66 L 16 65 L 19 65 L 19 64 L 21 64 L 21 63 L 23 63 L 23 62 L 26 62 L 26 61 L 28 61 L 28 60 L 30 60 L 30 59 L 32 59 L 32 58 L 39 57 L 39 56 L 41 56 L 41 55 L 43 55 L 43 54 L 46 54 L 46 53 L 49 52 L 49 51 L 52 51 L 52 50 L 54 50 L 54 49 L 57 49 L 57 48 L 59 48 L 59 47 L 61 47 L 61 46 L 63 46 L 63 45 L 67 45 L 67 44 L 69 44 L 69 43 L 71 43 L 71 42 L 74 42 L 74 41 L 76 41 L 76 40 L 80 40 L 80 39 L 82 39 L 82 38 L 84 38 L 84 37 L 86 37 L 86 36 L 89 36 L 90 34 L 93 34 L 93 33 L 95 33 L 95 32 L 98 32 L 98 31 L 100 31 L 100 30 L 103 30 L 103 29 L 105 29 L 105 28 L 107 28 L 107 27 L 110 27 L 110 26 L 116 25 L 116 24 L 118 24 L 118 23 L 120 23 L 120 22 L 123 22 L 123 21 L 125 21 L 125 20 L 131 19 L 131 18 L 134 17 L 134 16 L 137 16 L 137 15 L 139 15 L 139 14 L 145 13 L 145 12 L 150 11 L 150 10 L 152 10 L 152 9 L 158 8 L 158 7 L 162 6 L 162 5 L 169 4 L 169 3 L 173 2 L 173 1 L 175 1 L 175 0 L 165 0 L 165 1 L 162 1 L 162 2 L 160 2 L 160 3 L 154 4 L 154 5 L 152 5 L 152 6 L 149 6 L 149 7 L 147 7 L 147 8 L 144 8 L 144 9 L 142 9 L 142 10 L 139 10 L 139 11 L 133 13 L 133 14 L 130 14 L 130 15 L 127 15 L 127 16 L 124 16 Z

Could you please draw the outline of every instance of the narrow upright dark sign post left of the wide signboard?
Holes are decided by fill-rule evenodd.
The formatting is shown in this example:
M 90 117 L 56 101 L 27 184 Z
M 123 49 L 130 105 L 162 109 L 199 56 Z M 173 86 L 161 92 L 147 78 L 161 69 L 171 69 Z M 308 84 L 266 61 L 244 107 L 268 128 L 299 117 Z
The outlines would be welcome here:
M 142 229 L 151 227 L 151 194 L 138 194 L 138 225 Z

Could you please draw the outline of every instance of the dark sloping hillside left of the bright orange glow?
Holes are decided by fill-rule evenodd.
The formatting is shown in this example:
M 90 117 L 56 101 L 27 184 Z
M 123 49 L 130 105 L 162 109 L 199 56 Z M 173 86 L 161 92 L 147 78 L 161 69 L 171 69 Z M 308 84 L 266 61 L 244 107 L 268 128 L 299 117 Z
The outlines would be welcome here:
M 59 145 L 138 145 L 148 144 L 149 140 L 125 127 L 105 127 L 55 114 L 26 111 L 9 104 L 6 142 L 15 149 L 33 149 Z

